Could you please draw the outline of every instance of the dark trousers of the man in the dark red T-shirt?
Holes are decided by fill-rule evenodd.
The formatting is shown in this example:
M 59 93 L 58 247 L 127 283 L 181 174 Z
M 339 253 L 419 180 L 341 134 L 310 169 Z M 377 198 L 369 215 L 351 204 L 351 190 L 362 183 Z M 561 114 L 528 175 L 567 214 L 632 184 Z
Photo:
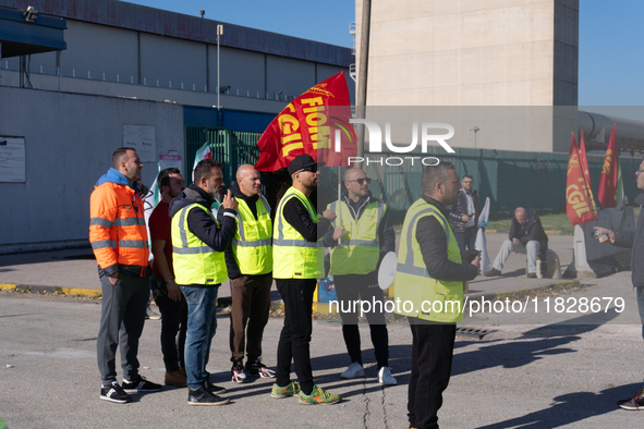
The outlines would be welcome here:
M 187 304 L 181 294 L 180 301 L 168 297 L 163 279 L 150 277 L 150 289 L 155 294 L 155 303 L 161 311 L 161 353 L 166 371 L 174 372 L 185 368 L 184 348 L 185 331 L 187 329 Z M 179 336 L 178 336 L 179 334 Z

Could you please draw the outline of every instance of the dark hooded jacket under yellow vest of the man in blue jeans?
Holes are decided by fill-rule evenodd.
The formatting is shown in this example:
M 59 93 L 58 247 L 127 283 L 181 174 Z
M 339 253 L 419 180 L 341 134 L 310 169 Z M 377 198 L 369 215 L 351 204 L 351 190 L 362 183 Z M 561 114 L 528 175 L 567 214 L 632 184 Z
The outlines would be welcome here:
M 210 209 L 215 199 L 193 183 L 180 192 L 177 198 L 170 203 L 170 217 L 193 203 L 198 203 Z M 216 252 L 224 252 L 230 246 L 236 230 L 236 211 L 221 209 L 220 212 L 221 216 L 218 219 L 220 228 L 217 228 L 215 220 L 199 208 L 192 209 L 187 213 L 187 229 Z

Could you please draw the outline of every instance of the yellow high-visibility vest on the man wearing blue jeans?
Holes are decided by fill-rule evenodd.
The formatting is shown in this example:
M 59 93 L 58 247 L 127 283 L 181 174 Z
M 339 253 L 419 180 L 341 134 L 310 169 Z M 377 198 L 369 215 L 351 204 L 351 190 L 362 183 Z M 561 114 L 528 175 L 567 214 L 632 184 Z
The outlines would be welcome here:
M 204 206 L 193 203 L 172 217 L 172 267 L 178 284 L 214 285 L 226 281 L 228 271 L 223 252 L 217 252 L 206 245 L 187 228 L 187 217 L 192 209 L 204 210 L 212 218 L 217 228 L 219 222 Z

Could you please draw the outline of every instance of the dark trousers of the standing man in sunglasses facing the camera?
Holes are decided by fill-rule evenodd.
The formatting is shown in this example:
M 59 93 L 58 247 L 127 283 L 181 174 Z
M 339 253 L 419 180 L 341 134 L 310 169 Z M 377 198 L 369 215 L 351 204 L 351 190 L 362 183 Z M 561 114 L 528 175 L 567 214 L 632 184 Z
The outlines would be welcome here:
M 357 361 L 362 365 L 362 350 L 360 345 L 360 330 L 357 318 L 361 307 L 354 303 L 360 299 L 368 302 L 370 311 L 365 311 L 372 334 L 372 344 L 376 354 L 378 370 L 389 366 L 389 333 L 387 332 L 387 320 L 385 320 L 385 293 L 377 284 L 365 284 L 361 281 L 362 275 L 335 275 L 336 293 L 340 317 L 342 318 L 342 335 L 351 363 Z M 380 306 L 374 306 L 380 303 Z M 355 310 L 354 310 L 355 309 Z M 365 305 L 366 309 L 366 305 Z

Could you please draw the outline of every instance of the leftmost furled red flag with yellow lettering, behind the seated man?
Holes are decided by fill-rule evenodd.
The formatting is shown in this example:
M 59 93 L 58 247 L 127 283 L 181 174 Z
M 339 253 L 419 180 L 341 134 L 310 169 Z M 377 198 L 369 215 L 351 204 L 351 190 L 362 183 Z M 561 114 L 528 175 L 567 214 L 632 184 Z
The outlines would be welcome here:
M 593 194 L 580 161 L 574 134 L 568 152 L 568 174 L 566 182 L 566 213 L 572 225 L 597 220 L 597 210 L 592 203 Z

